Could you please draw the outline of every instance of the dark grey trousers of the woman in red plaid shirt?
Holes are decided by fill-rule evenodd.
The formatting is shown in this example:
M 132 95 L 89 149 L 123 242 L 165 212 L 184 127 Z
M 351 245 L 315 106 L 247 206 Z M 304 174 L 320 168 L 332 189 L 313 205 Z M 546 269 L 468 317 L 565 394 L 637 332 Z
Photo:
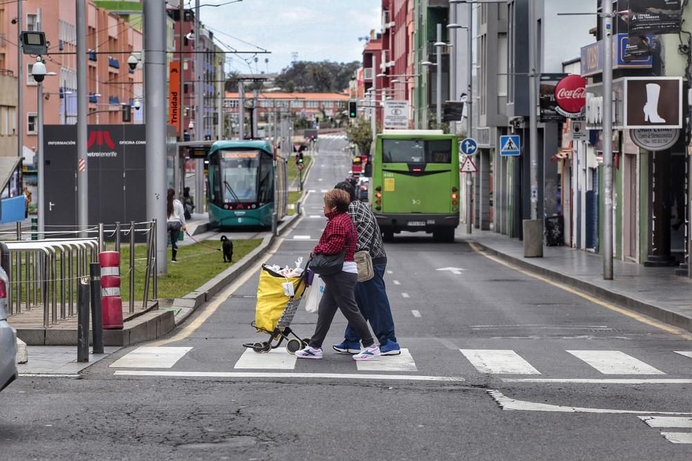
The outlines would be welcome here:
M 361 337 L 363 347 L 372 346 L 375 340 L 372 339 L 365 317 L 361 314 L 361 310 L 358 309 L 358 304 L 356 304 L 356 299 L 354 298 L 354 287 L 358 280 L 358 274 L 342 271 L 338 274 L 322 275 L 321 277 L 325 281 L 325 292 L 322 294 L 322 300 L 320 301 L 317 326 L 315 334 L 310 338 L 310 346 L 313 348 L 322 347 L 337 309 L 341 310 L 349 325 Z

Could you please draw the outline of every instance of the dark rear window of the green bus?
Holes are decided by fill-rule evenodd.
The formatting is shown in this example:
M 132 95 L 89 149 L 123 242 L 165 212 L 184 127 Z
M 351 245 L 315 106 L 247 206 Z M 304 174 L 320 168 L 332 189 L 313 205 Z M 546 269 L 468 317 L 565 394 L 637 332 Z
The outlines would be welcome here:
M 449 140 L 382 140 L 384 163 L 451 163 L 452 143 Z

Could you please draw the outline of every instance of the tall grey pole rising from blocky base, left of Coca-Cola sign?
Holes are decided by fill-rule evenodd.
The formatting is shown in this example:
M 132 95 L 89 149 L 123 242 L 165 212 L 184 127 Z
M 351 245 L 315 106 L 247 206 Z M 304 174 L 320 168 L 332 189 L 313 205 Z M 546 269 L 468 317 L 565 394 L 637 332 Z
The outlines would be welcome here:
M 536 30 L 536 5 L 529 1 L 529 163 L 531 182 L 531 219 L 522 222 L 524 238 L 524 257 L 543 257 L 543 219 L 538 219 L 538 71 L 536 53 L 538 51 L 538 31 Z

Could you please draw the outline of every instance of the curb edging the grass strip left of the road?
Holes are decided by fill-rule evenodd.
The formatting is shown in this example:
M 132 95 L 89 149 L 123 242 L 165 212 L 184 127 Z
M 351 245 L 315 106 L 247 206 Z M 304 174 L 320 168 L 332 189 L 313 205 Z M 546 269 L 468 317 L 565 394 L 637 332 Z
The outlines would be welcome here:
M 294 220 L 300 218 L 300 215 L 294 214 L 292 216 L 286 216 L 284 221 L 280 226 L 277 227 L 277 234 L 281 236 L 286 231 Z M 268 248 L 274 243 L 275 236 L 268 235 L 262 239 L 262 243 L 258 245 L 255 250 L 246 254 L 240 261 L 228 267 L 228 269 L 218 274 L 213 279 L 210 279 L 204 285 L 197 288 L 188 294 L 185 294 L 182 298 L 176 298 L 171 305 L 172 308 L 180 308 L 180 310 L 175 315 L 175 326 L 179 326 L 183 321 L 188 319 L 195 310 L 197 310 L 201 305 L 210 301 L 212 297 L 223 290 L 223 288 L 232 283 L 237 279 L 242 273 L 248 270 L 251 265 L 257 262 L 258 258 L 261 258 Z

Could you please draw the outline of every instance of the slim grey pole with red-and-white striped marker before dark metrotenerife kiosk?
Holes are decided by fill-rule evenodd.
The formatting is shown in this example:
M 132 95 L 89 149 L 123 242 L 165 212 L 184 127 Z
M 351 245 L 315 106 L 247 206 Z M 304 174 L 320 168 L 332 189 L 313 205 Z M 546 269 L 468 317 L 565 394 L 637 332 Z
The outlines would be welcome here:
M 20 2 L 21 3 L 21 2 Z M 76 0 L 77 12 L 77 227 L 89 227 L 89 159 L 86 157 L 86 0 Z M 67 97 L 65 95 L 65 97 Z M 163 144 L 165 145 L 165 143 Z M 43 146 L 41 147 L 43 150 Z M 44 165 L 39 165 L 40 169 Z M 44 207 L 44 203 L 39 203 Z M 83 233 L 82 237 L 87 234 Z

